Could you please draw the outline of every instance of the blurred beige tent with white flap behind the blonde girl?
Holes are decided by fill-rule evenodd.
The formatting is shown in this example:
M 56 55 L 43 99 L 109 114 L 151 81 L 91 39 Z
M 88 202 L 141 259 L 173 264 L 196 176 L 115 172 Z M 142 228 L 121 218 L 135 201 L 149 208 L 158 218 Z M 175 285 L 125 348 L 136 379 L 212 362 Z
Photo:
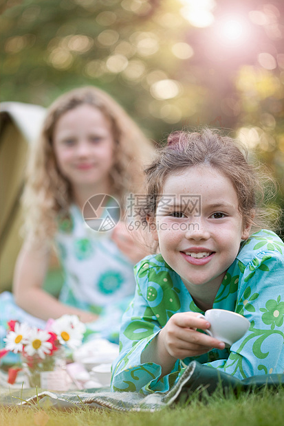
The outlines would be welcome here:
M 45 109 L 21 102 L 0 104 L 0 291 L 10 289 L 22 244 L 20 198 L 28 146 L 39 135 Z

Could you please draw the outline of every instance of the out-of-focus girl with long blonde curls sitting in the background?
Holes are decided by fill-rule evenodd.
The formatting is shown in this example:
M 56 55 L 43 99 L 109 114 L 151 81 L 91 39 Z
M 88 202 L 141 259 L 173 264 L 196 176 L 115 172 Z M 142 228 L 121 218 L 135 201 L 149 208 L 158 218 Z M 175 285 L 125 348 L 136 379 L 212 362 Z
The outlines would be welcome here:
M 74 89 L 50 106 L 31 147 L 25 242 L 14 271 L 14 300 L 1 295 L 2 324 L 13 319 L 43 326 L 50 317 L 73 313 L 116 341 L 135 288 L 133 264 L 146 252 L 122 223 L 113 232 L 90 229 L 82 209 L 90 197 L 107 194 L 123 210 L 125 195 L 140 189 L 152 152 L 138 126 L 100 89 Z M 97 213 L 104 217 L 106 209 Z M 42 287 L 53 244 L 65 271 L 58 300 Z

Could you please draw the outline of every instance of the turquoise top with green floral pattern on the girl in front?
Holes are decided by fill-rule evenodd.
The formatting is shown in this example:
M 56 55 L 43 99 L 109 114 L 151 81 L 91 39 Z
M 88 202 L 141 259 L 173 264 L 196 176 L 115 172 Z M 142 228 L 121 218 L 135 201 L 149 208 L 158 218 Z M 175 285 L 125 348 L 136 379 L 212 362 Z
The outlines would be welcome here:
M 141 363 L 141 353 L 173 314 L 204 311 L 161 255 L 144 258 L 135 273 L 135 298 L 122 318 L 120 356 L 113 363 L 111 388 L 142 394 L 166 392 L 184 370 L 181 361 L 159 379 L 161 367 Z M 195 359 L 239 379 L 283 373 L 284 244 L 274 232 L 263 229 L 242 243 L 212 307 L 240 313 L 248 318 L 250 328 L 231 348 L 186 358 L 186 365 Z

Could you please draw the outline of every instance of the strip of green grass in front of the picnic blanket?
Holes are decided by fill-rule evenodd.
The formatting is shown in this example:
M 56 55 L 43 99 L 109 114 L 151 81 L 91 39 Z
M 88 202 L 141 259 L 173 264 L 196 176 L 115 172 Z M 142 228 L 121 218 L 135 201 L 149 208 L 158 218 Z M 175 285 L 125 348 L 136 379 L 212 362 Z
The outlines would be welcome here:
M 1 407 L 1 426 L 283 426 L 284 389 L 224 398 L 218 394 L 159 412 L 114 412 L 80 407 L 60 412 L 38 407 Z

